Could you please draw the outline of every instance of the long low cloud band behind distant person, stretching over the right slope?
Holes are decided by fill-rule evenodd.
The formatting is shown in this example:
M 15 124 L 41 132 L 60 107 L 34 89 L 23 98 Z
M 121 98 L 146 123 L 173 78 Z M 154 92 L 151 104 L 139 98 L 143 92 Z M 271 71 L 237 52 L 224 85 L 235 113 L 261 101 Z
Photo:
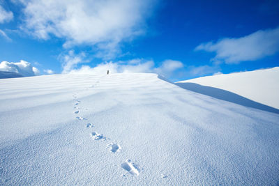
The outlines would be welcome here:
M 183 65 L 181 61 L 167 59 L 162 61 L 159 66 L 155 65 L 153 60 L 146 59 L 131 59 L 128 61 L 115 61 L 99 63 L 95 67 L 82 65 L 81 68 L 73 68 L 68 70 L 70 74 L 105 74 L 107 70 L 110 73 L 157 73 L 166 78 L 177 79 L 180 77 L 199 77 L 204 75 L 213 75 L 216 72 L 220 73 L 219 65 Z

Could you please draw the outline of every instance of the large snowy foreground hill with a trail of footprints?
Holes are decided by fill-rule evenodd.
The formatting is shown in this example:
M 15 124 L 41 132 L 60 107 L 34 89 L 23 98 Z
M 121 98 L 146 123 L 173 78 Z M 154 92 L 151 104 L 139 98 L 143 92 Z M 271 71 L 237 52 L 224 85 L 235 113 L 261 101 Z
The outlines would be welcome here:
M 0 185 L 276 185 L 279 114 L 155 74 L 0 79 Z

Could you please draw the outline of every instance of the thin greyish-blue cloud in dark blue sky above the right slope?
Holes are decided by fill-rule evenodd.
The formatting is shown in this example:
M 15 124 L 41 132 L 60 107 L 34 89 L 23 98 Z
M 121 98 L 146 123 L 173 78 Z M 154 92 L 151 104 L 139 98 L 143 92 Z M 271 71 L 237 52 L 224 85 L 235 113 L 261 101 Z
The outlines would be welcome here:
M 202 43 L 195 50 L 216 52 L 216 56 L 211 59 L 215 63 L 255 61 L 279 52 L 279 27 L 259 30 L 242 38 L 223 38 L 218 42 Z

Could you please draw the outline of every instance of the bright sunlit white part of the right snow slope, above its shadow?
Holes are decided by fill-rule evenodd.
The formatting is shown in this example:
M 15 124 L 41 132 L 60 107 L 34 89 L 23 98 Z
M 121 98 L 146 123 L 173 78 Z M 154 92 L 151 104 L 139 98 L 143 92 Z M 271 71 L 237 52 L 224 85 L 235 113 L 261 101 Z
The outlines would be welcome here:
M 199 77 L 177 83 L 195 83 L 202 86 L 220 88 L 269 107 L 279 109 L 279 67 L 227 75 Z

